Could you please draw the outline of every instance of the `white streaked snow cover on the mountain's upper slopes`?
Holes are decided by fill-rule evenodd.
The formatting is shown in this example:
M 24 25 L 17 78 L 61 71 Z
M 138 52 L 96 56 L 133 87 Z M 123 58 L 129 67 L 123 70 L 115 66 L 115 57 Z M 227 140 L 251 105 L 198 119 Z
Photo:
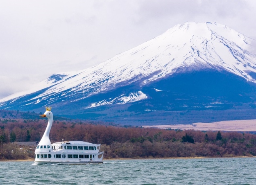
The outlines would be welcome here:
M 247 36 L 217 23 L 176 25 L 160 36 L 99 65 L 78 72 L 54 74 L 31 90 L 1 99 L 0 107 L 40 90 L 40 93 L 26 100 L 27 105 L 39 104 L 43 100 L 54 103 L 65 101 L 66 98 L 78 101 L 138 80 L 142 81 L 140 85 L 143 86 L 188 67 L 193 70 L 226 70 L 256 83 L 250 76 L 250 72 L 256 72 L 256 56 L 248 51 L 250 42 Z M 143 95 L 143 92 L 139 94 Z M 91 106 L 114 103 L 113 100 L 112 103 L 102 101 Z

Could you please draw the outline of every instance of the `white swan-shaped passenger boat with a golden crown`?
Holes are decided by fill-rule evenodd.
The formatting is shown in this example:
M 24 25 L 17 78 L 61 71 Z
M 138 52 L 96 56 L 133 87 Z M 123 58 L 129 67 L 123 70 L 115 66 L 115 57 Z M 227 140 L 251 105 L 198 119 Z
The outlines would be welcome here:
M 84 141 L 63 141 L 51 144 L 49 133 L 52 127 L 52 107 L 45 107 L 46 111 L 41 117 L 48 118 L 48 125 L 41 141 L 35 150 L 35 162 L 61 163 L 61 164 L 100 164 L 103 163 L 103 151 L 100 144 Z

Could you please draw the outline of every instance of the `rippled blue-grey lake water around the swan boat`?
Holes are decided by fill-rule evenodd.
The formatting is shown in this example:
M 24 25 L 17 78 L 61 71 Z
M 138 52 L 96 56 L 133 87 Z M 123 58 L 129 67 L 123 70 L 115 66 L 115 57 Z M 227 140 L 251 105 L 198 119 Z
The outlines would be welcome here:
M 256 184 L 256 158 L 104 160 L 102 165 L 0 162 L 0 184 Z

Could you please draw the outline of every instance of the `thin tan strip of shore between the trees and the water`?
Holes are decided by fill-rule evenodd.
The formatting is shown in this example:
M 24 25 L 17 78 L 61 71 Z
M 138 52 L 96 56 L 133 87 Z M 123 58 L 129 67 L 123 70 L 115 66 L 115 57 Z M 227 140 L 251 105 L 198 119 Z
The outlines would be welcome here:
M 104 160 L 152 160 L 152 159 L 205 159 L 205 158 L 255 158 L 256 156 L 234 156 L 234 157 L 170 157 L 170 158 L 110 158 Z M 15 159 L 15 160 L 0 160 L 0 162 L 34 162 L 34 158 L 31 159 Z

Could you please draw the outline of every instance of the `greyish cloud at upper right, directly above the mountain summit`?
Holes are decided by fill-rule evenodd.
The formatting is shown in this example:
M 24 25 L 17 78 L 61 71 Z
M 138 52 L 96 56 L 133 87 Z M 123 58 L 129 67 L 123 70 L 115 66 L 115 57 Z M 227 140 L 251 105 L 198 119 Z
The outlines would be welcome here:
M 137 25 L 170 28 L 184 22 L 217 22 L 256 38 L 256 2 L 253 0 L 139 1 Z M 167 29 L 168 29 L 167 28 Z

